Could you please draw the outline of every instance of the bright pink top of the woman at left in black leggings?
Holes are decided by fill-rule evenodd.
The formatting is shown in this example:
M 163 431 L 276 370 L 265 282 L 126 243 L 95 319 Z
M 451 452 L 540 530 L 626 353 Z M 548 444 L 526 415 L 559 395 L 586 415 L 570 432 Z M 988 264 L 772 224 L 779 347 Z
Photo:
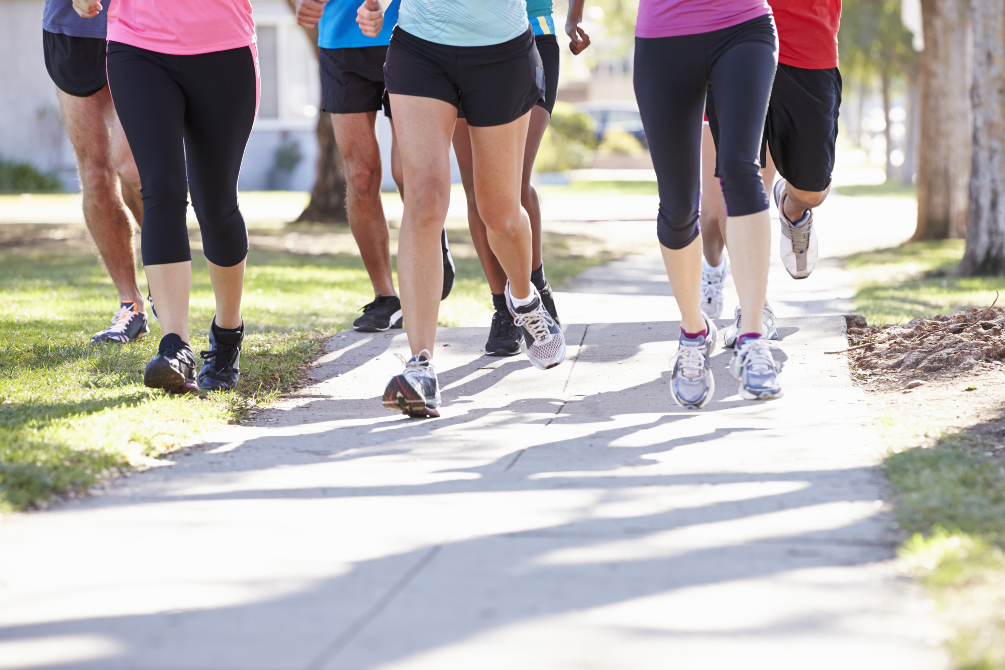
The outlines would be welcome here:
M 191 55 L 255 42 L 250 0 L 108 0 L 109 41 Z

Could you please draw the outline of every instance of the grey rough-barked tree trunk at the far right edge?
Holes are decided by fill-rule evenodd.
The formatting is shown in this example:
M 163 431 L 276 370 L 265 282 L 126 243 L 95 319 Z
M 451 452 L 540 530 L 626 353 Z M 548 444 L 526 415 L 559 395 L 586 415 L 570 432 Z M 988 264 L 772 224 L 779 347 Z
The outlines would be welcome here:
M 960 275 L 1005 275 L 1005 4 L 973 0 L 974 162 Z

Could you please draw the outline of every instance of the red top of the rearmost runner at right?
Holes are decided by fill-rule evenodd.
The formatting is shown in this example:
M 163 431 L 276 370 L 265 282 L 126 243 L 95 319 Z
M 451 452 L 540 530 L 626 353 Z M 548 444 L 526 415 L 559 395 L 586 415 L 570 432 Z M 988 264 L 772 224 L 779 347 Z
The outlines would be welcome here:
M 804 69 L 837 67 L 841 0 L 768 0 L 778 28 L 778 61 Z

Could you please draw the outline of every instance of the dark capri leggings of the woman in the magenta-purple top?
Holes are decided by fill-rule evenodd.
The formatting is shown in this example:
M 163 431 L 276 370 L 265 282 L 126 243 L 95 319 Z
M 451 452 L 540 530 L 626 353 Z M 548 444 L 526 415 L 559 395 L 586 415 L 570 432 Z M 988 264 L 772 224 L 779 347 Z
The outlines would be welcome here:
M 659 187 L 656 234 L 683 248 L 698 234 L 701 120 L 710 83 L 718 103 L 719 166 L 730 216 L 768 208 L 761 136 L 778 64 L 771 15 L 674 37 L 635 38 L 635 97 Z

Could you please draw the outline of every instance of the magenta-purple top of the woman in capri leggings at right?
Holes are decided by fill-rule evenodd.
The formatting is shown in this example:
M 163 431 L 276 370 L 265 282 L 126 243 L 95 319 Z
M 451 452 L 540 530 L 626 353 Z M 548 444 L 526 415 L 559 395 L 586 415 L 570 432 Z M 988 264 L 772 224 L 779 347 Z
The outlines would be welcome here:
M 771 14 L 767 0 L 641 0 L 635 36 L 694 35 L 766 14 Z

